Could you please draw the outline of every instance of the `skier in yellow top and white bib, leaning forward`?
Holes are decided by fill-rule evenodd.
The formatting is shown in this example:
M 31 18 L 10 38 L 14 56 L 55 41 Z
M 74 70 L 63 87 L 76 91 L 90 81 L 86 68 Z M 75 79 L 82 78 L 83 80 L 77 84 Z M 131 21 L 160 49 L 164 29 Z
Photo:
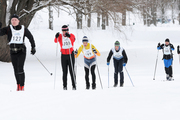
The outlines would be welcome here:
M 92 89 L 96 89 L 96 75 L 95 75 L 95 68 L 96 68 L 96 55 L 100 56 L 99 51 L 95 48 L 94 45 L 89 43 L 89 40 L 86 36 L 83 37 L 83 45 L 81 45 L 78 51 L 75 51 L 76 58 L 82 52 L 84 54 L 84 71 L 85 71 L 85 80 L 86 80 L 86 89 L 90 89 L 89 83 L 89 71 L 91 71 L 92 75 Z

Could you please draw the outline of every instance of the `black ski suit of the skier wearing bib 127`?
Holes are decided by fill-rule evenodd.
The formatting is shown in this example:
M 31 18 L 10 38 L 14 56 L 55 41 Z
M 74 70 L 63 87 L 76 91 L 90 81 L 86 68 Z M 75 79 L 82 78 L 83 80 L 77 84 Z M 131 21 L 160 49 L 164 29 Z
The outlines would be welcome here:
M 22 26 L 13 26 L 13 29 L 15 30 L 21 30 Z M 31 32 L 24 28 L 24 38 L 27 37 L 31 43 L 31 47 L 35 48 L 35 42 L 34 38 L 31 34 Z M 10 26 L 4 27 L 0 29 L 0 36 L 7 35 L 8 36 L 8 42 L 11 41 L 12 38 L 12 31 L 10 29 Z M 20 84 L 20 86 L 24 86 L 25 82 L 25 73 L 24 73 L 24 62 L 26 59 L 26 46 L 24 44 L 10 44 L 10 55 L 11 55 L 11 61 L 14 68 L 14 74 L 17 81 L 17 84 Z

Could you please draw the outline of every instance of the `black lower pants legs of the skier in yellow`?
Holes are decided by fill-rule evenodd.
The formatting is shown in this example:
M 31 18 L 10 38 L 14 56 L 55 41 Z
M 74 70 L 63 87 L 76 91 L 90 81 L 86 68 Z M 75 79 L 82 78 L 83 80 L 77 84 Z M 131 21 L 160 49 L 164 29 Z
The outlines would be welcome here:
M 96 68 L 96 65 L 93 65 L 91 66 L 91 75 L 92 75 L 92 86 L 93 87 L 96 87 L 96 75 L 95 75 L 95 68 Z M 90 86 L 90 83 L 89 83 L 89 69 L 84 67 L 84 70 L 85 70 L 85 80 L 86 80 L 86 86 Z

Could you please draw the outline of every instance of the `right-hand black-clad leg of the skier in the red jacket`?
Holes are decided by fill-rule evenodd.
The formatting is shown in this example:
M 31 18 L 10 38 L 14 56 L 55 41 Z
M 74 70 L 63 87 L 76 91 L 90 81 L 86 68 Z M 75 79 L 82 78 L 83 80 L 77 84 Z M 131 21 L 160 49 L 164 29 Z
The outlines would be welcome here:
M 75 58 L 74 58 L 74 52 L 72 52 L 71 54 L 71 59 L 72 59 L 72 65 L 71 65 L 71 60 L 69 57 L 69 71 L 70 71 L 70 75 L 71 75 L 71 81 L 72 81 L 72 86 L 73 88 L 76 88 L 76 76 L 75 76 L 75 71 L 74 71 L 74 63 L 75 63 Z

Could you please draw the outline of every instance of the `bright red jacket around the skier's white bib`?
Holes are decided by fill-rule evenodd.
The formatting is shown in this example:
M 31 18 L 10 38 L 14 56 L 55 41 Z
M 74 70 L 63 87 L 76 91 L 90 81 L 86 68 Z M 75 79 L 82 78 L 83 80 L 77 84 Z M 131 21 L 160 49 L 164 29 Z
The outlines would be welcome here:
M 54 42 L 57 43 L 59 42 L 60 46 L 61 46 L 61 53 L 64 54 L 64 55 L 69 55 L 69 54 L 72 54 L 72 51 L 74 51 L 74 42 L 75 42 L 75 36 L 73 34 L 70 34 L 70 40 L 71 40 L 71 44 L 72 44 L 72 48 L 70 48 L 70 53 L 69 53 L 69 49 L 63 49 L 62 48 L 62 34 L 59 34 L 59 37 L 58 38 L 55 38 L 54 39 Z

